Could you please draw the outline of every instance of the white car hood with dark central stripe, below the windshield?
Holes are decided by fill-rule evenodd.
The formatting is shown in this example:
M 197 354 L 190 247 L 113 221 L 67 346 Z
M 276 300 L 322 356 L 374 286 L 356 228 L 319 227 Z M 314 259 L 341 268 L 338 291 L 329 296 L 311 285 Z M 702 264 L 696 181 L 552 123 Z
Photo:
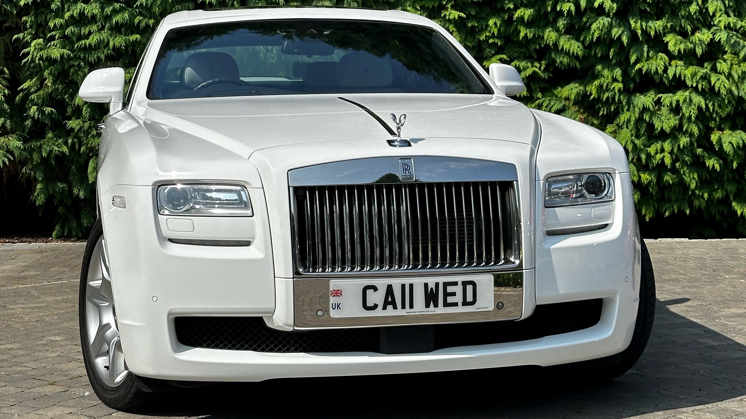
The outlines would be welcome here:
M 345 98 L 348 101 L 342 100 Z M 536 119 L 518 101 L 493 95 L 375 93 L 272 95 L 147 101 L 132 113 L 169 134 L 183 131 L 248 157 L 253 151 L 304 142 L 391 138 L 389 114 L 407 114 L 405 139 L 501 139 L 536 148 Z M 160 128 L 159 128 L 160 130 Z M 161 136 L 161 135 L 159 135 Z M 162 137 L 162 136 L 161 136 Z

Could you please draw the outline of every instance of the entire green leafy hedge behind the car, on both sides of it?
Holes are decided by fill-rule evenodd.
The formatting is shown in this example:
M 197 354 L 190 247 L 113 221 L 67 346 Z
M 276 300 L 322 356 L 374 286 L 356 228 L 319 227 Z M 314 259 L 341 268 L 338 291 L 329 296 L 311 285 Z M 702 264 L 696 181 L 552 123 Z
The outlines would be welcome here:
M 362 4 L 360 4 L 362 2 Z M 694 234 L 746 235 L 746 2 L 737 0 L 8 0 L 0 4 L 0 169 L 57 211 L 55 236 L 95 218 L 104 106 L 77 97 L 92 70 L 131 77 L 178 10 L 258 4 L 401 8 L 434 19 L 477 60 L 521 72 L 531 107 L 615 136 L 644 219 L 686 213 Z

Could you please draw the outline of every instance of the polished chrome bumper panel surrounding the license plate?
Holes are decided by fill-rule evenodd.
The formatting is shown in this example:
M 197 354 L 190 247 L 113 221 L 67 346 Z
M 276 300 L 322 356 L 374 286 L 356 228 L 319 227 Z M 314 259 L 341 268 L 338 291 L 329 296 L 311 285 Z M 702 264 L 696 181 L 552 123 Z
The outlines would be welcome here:
M 459 272 L 463 272 L 461 268 Z M 368 272 L 369 273 L 369 272 Z M 418 272 L 407 272 L 407 277 L 418 278 Z M 329 312 L 329 280 L 295 279 L 294 321 L 296 330 L 328 329 L 336 327 L 381 327 L 406 324 L 472 323 L 478 321 L 515 320 L 523 314 L 524 271 L 492 272 L 495 278 L 495 303 L 503 309 L 484 312 L 441 313 L 423 315 L 390 315 L 373 317 L 333 318 L 318 317 L 319 309 Z M 453 274 L 453 272 L 451 272 Z M 339 278 L 336 278 L 339 279 Z M 371 278 L 373 279 L 373 278 Z M 362 280 L 361 280 L 362 281 Z

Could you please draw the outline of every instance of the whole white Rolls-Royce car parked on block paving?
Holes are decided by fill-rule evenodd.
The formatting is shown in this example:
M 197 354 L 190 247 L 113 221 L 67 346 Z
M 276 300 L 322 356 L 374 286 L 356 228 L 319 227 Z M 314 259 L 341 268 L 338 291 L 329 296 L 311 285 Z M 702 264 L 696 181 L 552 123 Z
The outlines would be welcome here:
M 108 406 L 280 377 L 623 374 L 655 289 L 624 149 L 400 10 L 163 19 L 106 102 L 81 343 Z M 580 374 L 580 373 L 577 373 Z

